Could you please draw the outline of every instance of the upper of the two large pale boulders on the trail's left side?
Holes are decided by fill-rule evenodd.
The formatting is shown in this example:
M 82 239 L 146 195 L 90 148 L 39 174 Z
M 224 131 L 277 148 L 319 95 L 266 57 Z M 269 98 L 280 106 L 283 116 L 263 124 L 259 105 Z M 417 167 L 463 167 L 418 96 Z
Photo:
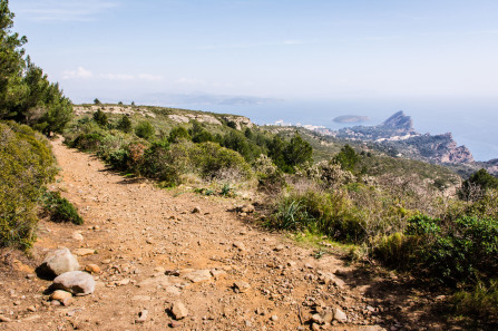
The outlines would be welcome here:
M 79 270 L 79 263 L 68 249 L 50 252 L 36 272 L 40 278 L 53 279 L 60 274 Z

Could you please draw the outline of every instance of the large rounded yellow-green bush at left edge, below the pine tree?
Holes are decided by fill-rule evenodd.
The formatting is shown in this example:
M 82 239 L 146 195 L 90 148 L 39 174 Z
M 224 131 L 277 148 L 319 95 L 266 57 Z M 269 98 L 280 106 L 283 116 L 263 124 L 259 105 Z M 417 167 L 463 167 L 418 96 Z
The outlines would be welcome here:
M 0 246 L 29 249 L 37 202 L 57 173 L 48 142 L 30 127 L 0 123 Z

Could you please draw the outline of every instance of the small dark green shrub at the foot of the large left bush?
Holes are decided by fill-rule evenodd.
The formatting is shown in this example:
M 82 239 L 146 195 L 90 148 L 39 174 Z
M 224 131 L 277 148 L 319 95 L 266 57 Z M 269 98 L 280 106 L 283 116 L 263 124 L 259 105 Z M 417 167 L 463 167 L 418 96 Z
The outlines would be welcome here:
M 76 225 L 84 224 L 84 220 L 78 214 L 78 210 L 67 198 L 61 197 L 59 192 L 46 192 L 43 208 L 50 214 L 52 222 L 71 222 Z

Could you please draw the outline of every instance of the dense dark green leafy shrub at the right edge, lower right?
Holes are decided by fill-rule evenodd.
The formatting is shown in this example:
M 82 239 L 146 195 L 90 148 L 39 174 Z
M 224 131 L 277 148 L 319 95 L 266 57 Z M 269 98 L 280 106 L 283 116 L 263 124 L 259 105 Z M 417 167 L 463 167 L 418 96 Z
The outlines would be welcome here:
M 407 234 L 418 240 L 413 263 L 441 284 L 471 284 L 498 274 L 498 220 L 416 216 Z

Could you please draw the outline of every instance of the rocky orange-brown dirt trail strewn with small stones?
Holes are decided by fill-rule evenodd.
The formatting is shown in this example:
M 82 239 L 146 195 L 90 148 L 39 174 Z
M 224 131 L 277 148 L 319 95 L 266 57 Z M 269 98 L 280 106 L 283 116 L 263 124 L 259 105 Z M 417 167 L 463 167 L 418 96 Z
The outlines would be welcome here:
M 124 178 L 60 140 L 53 152 L 61 167 L 56 186 L 79 208 L 85 225 L 41 222 L 36 262 L 61 246 L 92 249 L 96 254 L 78 260 L 102 272 L 95 275 L 94 294 L 51 306 L 42 295 L 50 282 L 26 276 L 29 266 L 17 262 L 12 273 L 25 276 L 16 284 L 8 275 L 0 280 L 0 314 L 13 320 L 0 323 L 0 330 L 310 330 L 313 313 L 334 308 L 345 312 L 348 322 L 320 328 L 397 325 L 381 319 L 380 312 L 390 308 L 367 299 L 369 286 L 359 284 L 355 271 L 338 256 L 316 260 L 311 250 L 252 227 L 230 211 L 236 201 L 175 195 Z M 192 213 L 195 207 L 201 213 Z M 82 241 L 72 237 L 76 231 Z M 179 321 L 167 312 L 175 301 L 188 310 Z M 137 323 L 143 310 L 147 319 Z

